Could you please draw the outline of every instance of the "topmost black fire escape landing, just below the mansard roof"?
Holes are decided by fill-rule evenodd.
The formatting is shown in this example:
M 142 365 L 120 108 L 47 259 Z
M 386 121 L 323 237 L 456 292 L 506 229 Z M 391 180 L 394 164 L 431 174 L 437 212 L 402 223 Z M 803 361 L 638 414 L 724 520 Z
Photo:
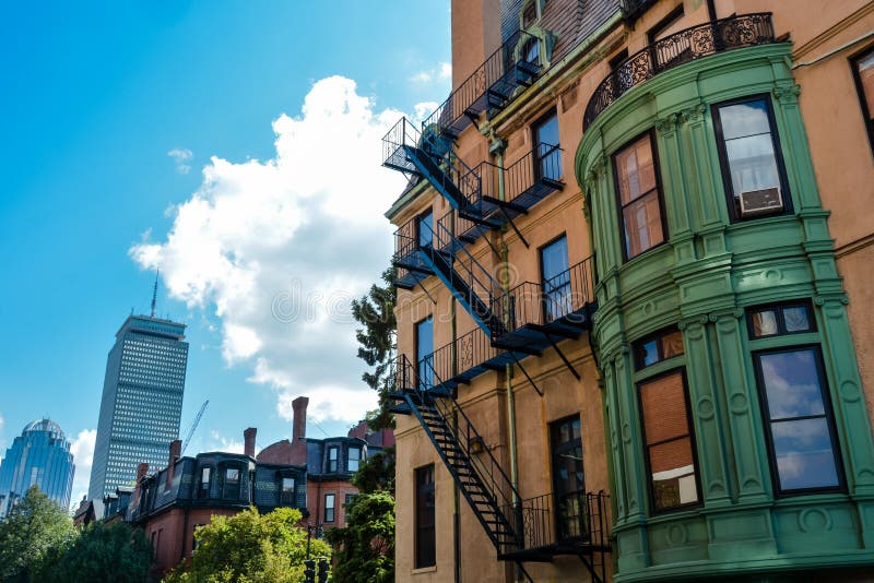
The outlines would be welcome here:
M 500 110 L 512 100 L 517 87 L 527 87 L 540 74 L 539 39 L 517 31 L 456 88 L 422 123 L 450 140 L 486 109 Z

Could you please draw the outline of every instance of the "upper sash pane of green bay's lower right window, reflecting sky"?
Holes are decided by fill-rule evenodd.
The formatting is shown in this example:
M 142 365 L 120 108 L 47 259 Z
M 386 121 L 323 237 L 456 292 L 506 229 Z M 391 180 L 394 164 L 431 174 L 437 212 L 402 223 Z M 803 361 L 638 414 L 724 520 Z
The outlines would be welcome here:
M 759 356 L 771 419 L 824 415 L 813 348 Z

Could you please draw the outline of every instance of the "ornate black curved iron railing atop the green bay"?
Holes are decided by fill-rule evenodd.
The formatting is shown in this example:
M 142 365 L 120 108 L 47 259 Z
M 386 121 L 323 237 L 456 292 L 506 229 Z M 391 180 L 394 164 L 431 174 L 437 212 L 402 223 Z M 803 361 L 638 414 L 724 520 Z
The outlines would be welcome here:
M 638 2 L 640 3 L 640 2 Z M 610 73 L 586 106 L 583 129 L 633 87 L 717 52 L 775 43 L 770 12 L 741 14 L 686 28 L 635 52 Z

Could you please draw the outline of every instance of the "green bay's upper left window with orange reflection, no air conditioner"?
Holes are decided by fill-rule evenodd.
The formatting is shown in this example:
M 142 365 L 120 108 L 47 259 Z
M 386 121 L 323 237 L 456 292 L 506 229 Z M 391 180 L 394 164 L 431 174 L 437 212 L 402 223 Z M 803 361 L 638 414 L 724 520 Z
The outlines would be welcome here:
M 664 242 L 661 193 L 651 134 L 647 133 L 613 156 L 625 259 Z

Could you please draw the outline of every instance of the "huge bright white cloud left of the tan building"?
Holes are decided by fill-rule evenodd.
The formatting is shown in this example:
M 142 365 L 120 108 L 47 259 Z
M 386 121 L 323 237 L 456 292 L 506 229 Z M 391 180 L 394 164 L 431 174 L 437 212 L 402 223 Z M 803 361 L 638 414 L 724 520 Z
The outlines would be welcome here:
M 166 240 L 130 250 L 161 267 L 172 297 L 214 311 L 225 361 L 273 388 L 280 415 L 299 395 L 316 420 L 355 421 L 376 404 L 350 301 L 390 259 L 382 213 L 404 178 L 380 167 L 381 138 L 401 115 L 376 110 L 350 79 L 318 81 L 299 115 L 273 121 L 273 158 L 213 157 Z

